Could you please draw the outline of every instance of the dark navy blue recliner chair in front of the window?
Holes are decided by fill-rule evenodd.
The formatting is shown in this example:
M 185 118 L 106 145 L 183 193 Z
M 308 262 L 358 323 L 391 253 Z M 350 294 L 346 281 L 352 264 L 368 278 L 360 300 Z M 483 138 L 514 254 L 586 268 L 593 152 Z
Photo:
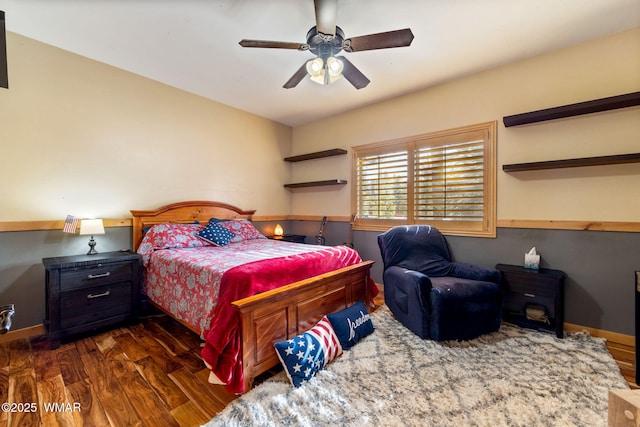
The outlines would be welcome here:
M 378 236 L 378 245 L 385 303 L 418 336 L 469 340 L 500 328 L 500 272 L 452 262 L 435 227 L 393 227 Z

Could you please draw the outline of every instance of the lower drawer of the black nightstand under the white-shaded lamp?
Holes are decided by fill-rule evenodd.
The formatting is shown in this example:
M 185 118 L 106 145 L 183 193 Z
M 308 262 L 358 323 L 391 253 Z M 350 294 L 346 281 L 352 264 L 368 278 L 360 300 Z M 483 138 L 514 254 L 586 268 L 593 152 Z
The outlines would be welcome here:
M 126 315 L 131 310 L 131 283 L 88 287 L 60 294 L 61 328 Z

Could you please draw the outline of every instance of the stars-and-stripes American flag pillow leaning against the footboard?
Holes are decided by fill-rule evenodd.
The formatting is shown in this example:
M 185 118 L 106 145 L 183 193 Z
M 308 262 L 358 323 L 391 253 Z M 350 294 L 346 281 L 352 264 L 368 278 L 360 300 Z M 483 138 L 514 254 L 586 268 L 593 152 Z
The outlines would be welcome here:
M 342 354 L 342 346 L 327 317 L 302 335 L 274 344 L 291 384 L 300 387 Z

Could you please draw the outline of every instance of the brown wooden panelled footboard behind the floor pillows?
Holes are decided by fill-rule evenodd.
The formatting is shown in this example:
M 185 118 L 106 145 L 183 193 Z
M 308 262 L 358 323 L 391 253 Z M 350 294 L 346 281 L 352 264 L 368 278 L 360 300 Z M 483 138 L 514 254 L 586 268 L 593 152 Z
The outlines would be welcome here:
M 301 334 L 325 314 L 357 301 L 370 305 L 372 265 L 373 261 L 364 261 L 234 301 L 241 319 L 245 391 L 258 375 L 280 363 L 275 342 Z

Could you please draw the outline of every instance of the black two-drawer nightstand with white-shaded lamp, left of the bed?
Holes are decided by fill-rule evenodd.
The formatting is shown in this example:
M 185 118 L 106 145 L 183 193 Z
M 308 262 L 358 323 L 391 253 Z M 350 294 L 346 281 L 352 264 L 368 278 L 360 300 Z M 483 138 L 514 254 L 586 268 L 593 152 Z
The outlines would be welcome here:
M 43 258 L 47 337 L 70 335 L 138 317 L 141 257 L 129 251 Z

